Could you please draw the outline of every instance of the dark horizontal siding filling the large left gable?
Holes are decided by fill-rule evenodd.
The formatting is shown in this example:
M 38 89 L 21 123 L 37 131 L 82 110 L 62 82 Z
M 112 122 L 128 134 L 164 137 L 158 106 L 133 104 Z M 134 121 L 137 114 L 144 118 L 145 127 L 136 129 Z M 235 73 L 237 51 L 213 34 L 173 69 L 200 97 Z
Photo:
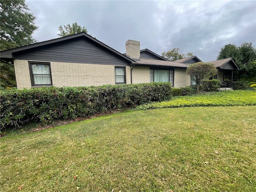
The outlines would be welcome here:
M 70 63 L 112 64 L 119 66 L 130 64 L 106 48 L 84 38 L 42 46 L 32 51 L 18 52 L 14 55 L 14 58 Z

